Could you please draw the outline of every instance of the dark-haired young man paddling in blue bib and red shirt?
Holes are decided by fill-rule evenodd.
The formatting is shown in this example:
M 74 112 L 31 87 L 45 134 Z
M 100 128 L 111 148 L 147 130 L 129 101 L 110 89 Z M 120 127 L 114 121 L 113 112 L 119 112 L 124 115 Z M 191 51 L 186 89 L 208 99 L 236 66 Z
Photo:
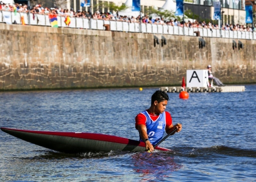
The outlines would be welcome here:
M 135 127 L 140 133 L 140 141 L 144 141 L 146 150 L 154 150 L 153 145 L 157 144 L 163 137 L 163 133 L 171 133 L 182 130 L 182 124 L 172 124 L 171 114 L 166 112 L 166 105 L 169 96 L 163 91 L 156 91 L 151 97 L 149 109 L 139 113 L 135 118 Z

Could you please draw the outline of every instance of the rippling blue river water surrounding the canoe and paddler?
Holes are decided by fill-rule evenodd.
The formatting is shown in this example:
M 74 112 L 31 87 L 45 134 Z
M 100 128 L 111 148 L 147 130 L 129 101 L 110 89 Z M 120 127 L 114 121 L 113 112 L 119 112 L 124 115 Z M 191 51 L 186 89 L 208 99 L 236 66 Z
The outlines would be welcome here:
M 138 140 L 134 118 L 158 88 L 1 92 L 0 126 L 93 132 Z M 0 132 L 0 181 L 255 181 L 256 85 L 245 92 L 190 93 L 167 111 L 183 130 L 171 152 L 54 152 Z

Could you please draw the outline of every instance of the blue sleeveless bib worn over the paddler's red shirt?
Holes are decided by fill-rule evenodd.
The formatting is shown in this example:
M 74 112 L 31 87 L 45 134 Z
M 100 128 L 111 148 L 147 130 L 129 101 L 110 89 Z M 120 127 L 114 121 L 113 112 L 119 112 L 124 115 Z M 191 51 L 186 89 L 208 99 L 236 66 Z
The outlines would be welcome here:
M 155 121 L 152 120 L 151 115 L 149 115 L 149 113 L 146 110 L 144 110 L 140 114 L 146 116 L 145 125 L 147 128 L 149 141 L 151 142 L 152 145 L 157 144 L 158 141 L 162 139 L 163 133 L 165 133 L 166 112 L 160 113 Z M 140 138 L 140 141 L 143 140 Z

